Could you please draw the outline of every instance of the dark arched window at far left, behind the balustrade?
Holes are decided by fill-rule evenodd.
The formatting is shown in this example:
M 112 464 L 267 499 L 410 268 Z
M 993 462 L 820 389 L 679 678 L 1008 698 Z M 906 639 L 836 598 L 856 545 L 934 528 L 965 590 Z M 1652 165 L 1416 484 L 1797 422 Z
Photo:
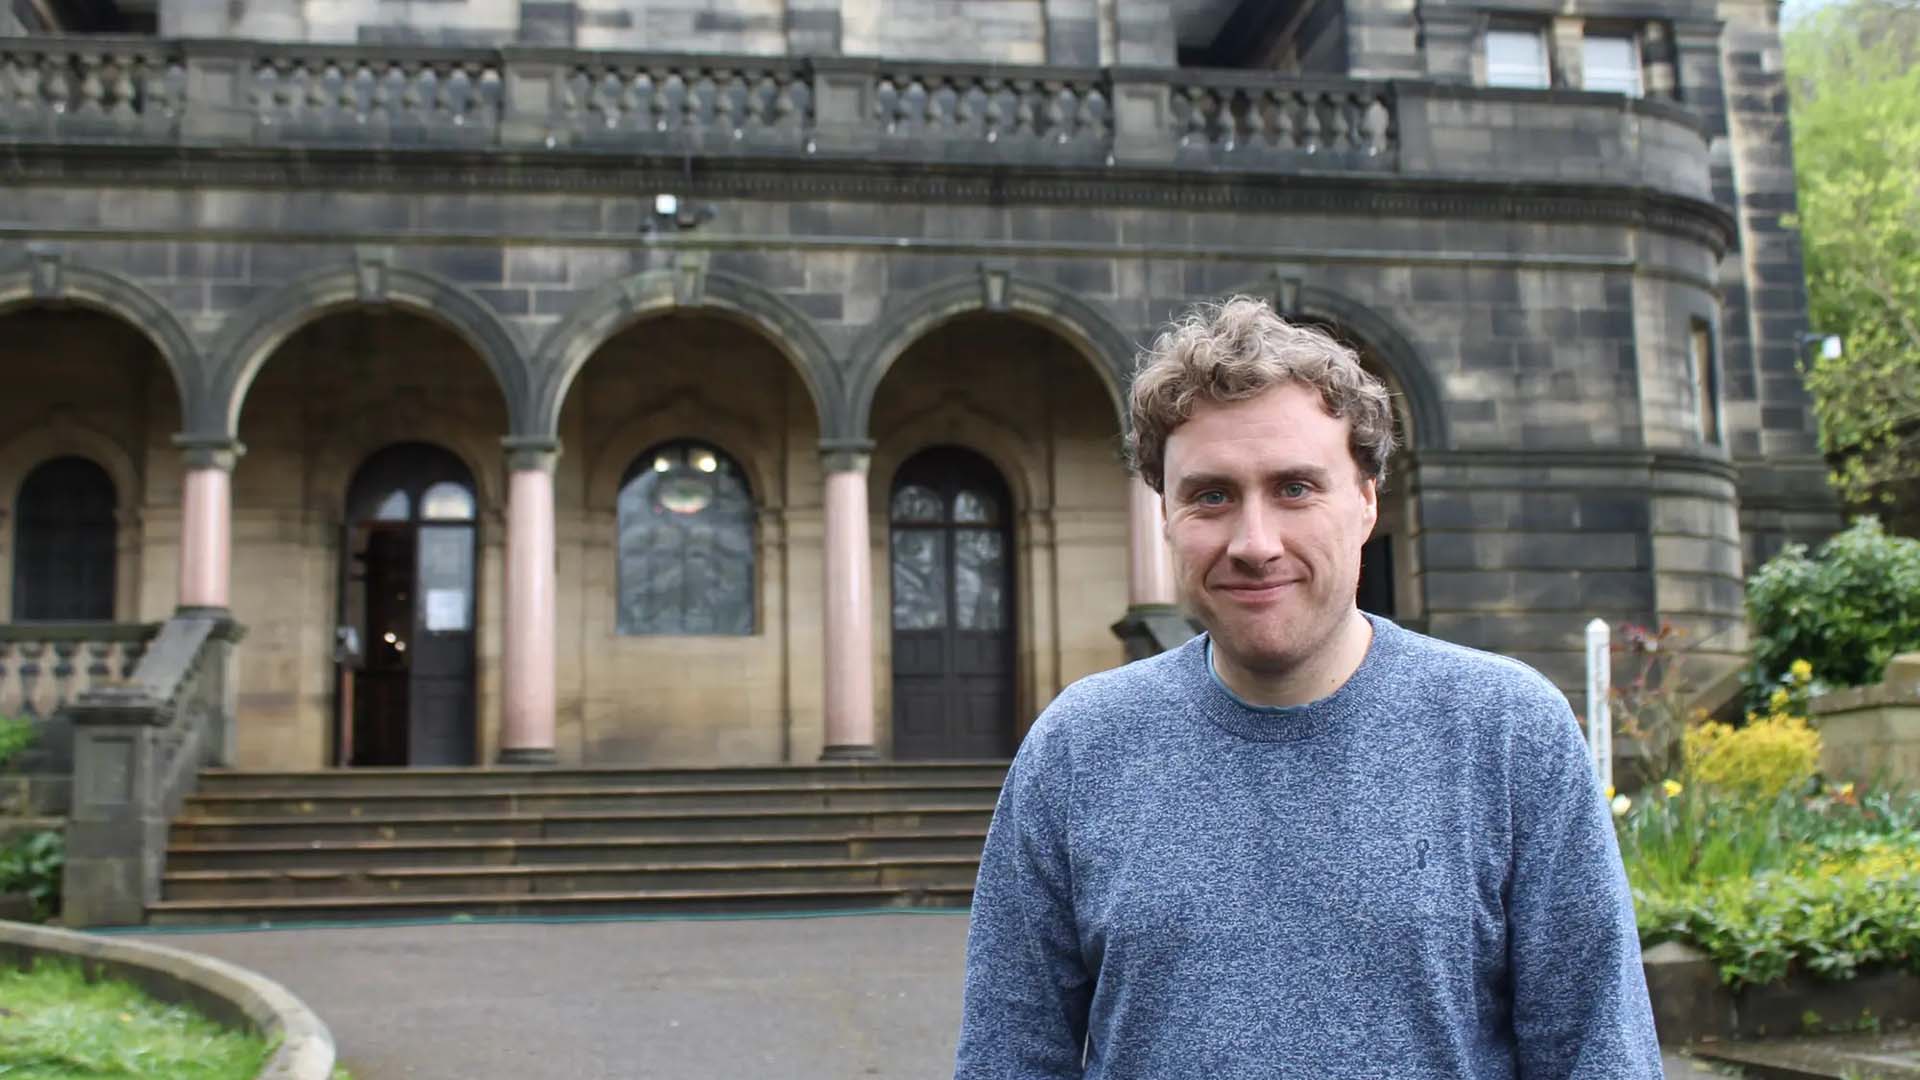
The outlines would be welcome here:
M 42 463 L 13 507 L 13 621 L 113 621 L 113 479 L 84 457 Z

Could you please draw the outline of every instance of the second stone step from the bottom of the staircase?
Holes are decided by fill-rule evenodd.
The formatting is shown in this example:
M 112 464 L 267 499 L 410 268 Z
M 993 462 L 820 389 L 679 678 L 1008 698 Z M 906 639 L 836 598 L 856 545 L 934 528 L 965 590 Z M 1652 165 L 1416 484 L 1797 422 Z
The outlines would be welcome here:
M 603 863 L 551 867 L 396 867 L 371 871 L 169 871 L 165 899 L 315 899 L 394 896 L 570 896 L 601 892 L 812 886 L 972 888 L 979 859 L 793 859 L 764 863 Z

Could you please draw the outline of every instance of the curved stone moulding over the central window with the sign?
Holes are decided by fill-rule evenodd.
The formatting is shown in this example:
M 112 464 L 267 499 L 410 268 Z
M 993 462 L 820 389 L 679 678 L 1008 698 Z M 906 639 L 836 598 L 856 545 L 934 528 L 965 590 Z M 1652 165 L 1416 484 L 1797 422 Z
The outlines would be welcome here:
M 701 394 L 680 390 L 636 413 L 605 442 L 591 448 L 584 492 L 588 509 L 612 513 L 620 480 L 639 454 L 676 438 L 710 442 L 737 461 L 753 486 L 755 507 L 764 511 L 783 505 L 778 448 L 756 436 L 751 421 Z

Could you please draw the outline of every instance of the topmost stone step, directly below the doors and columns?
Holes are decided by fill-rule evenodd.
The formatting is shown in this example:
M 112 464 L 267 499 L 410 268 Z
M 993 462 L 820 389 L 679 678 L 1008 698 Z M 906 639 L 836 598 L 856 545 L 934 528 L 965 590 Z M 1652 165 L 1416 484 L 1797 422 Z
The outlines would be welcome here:
M 271 792 L 307 796 L 328 792 L 465 792 L 545 788 L 668 788 L 668 786 L 783 786 L 783 784 L 995 784 L 1006 761 L 885 761 L 845 765 L 739 765 L 684 769 L 326 769 L 252 773 L 204 769 L 200 794 Z

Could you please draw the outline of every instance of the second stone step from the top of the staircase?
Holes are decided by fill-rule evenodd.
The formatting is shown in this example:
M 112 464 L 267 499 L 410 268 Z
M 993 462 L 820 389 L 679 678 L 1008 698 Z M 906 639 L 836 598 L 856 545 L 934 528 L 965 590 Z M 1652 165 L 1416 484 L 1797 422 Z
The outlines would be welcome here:
M 902 782 L 789 782 L 789 784 L 678 784 L 678 786 L 576 786 L 518 788 L 507 784 L 467 790 L 384 792 L 313 790 L 275 792 L 230 788 L 186 799 L 186 817 L 413 817 L 413 815 L 516 815 L 578 811 L 680 811 L 680 809 L 895 809 L 987 807 L 1000 796 L 998 780 L 939 784 Z

